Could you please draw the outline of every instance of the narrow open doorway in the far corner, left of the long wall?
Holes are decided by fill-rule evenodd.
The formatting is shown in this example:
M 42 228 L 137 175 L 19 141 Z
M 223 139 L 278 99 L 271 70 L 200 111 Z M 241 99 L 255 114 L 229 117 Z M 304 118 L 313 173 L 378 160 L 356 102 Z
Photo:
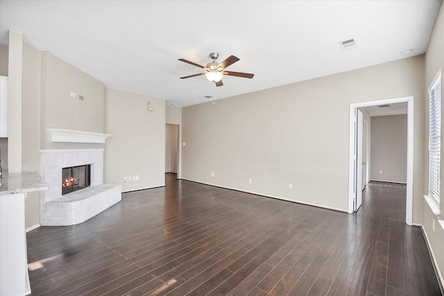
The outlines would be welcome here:
M 165 173 L 179 171 L 179 125 L 165 125 Z

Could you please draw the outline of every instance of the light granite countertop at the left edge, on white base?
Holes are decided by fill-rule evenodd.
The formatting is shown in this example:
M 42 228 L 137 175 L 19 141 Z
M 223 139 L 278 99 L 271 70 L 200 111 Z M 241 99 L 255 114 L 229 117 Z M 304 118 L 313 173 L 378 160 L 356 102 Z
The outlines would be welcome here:
M 0 178 L 0 195 L 43 191 L 48 189 L 37 172 L 8 173 Z

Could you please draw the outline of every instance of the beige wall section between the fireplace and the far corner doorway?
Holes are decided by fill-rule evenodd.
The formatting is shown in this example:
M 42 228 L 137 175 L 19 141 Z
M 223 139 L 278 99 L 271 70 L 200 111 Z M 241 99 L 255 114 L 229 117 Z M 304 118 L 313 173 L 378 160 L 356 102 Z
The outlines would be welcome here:
M 154 111 L 146 110 L 146 101 Z M 106 92 L 105 181 L 122 191 L 165 184 L 165 101 L 117 89 Z M 123 182 L 139 175 L 139 180 Z

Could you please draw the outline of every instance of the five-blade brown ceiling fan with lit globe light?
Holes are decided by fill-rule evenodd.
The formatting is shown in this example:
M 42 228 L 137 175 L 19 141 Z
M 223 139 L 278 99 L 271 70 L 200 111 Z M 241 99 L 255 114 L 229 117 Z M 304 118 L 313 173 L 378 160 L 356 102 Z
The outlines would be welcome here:
M 201 66 L 200 64 L 190 62 L 189 60 L 178 59 L 182 62 L 192 64 L 193 66 L 196 66 L 196 67 L 199 67 L 199 68 L 202 68 L 205 70 L 204 73 L 198 73 L 198 74 L 194 74 L 194 75 L 190 75 L 190 76 L 184 76 L 184 77 L 180 77 L 180 79 L 205 75 L 205 77 L 208 80 L 210 80 L 211 82 L 214 82 L 216 84 L 216 87 L 220 87 L 223 85 L 222 77 L 224 75 L 244 77 L 244 78 L 253 78 L 253 76 L 255 76 L 255 74 L 251 74 L 251 73 L 225 71 L 225 69 L 228 66 L 234 64 L 235 62 L 237 62 L 239 60 L 239 58 L 235 57 L 234 55 L 230 55 L 228 58 L 223 60 L 220 64 L 218 62 L 216 62 L 216 59 L 219 58 L 219 53 L 210 53 L 210 58 L 212 58 L 213 61 L 210 62 L 209 64 L 207 64 L 205 67 Z

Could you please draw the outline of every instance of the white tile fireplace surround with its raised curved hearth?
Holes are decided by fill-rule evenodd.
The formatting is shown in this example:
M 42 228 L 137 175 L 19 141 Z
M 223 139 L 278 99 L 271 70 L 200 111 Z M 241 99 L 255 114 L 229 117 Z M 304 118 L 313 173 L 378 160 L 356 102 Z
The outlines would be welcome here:
M 62 196 L 62 168 L 91 164 L 91 184 Z M 40 193 L 40 224 L 85 222 L 121 200 L 120 184 L 103 184 L 103 149 L 40 150 L 40 175 L 49 187 Z

